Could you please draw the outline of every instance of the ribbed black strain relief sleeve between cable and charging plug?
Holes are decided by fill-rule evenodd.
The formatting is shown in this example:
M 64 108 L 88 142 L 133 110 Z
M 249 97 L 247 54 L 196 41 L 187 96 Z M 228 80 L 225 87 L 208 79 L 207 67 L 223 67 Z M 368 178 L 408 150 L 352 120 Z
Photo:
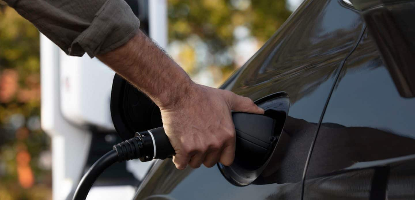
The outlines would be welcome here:
M 133 137 L 112 146 L 112 149 L 117 152 L 119 162 L 139 158 L 142 148 L 143 144 L 139 137 Z

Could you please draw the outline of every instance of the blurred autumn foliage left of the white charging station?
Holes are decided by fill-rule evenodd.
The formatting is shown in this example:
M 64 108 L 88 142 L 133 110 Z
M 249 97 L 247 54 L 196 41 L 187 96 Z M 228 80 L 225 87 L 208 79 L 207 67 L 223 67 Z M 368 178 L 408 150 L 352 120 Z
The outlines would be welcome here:
M 0 199 L 48 199 L 40 130 L 39 31 L 0 0 Z

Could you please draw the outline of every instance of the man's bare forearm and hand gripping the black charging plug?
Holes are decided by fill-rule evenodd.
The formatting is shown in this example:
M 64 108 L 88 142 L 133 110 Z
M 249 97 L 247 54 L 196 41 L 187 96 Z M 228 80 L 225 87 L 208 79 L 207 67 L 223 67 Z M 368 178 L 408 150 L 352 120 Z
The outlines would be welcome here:
M 195 84 L 141 31 L 125 45 L 97 57 L 159 106 L 178 169 L 188 164 L 198 168 L 202 163 L 212 167 L 218 161 L 232 164 L 235 129 L 231 110 L 264 113 L 247 97 Z

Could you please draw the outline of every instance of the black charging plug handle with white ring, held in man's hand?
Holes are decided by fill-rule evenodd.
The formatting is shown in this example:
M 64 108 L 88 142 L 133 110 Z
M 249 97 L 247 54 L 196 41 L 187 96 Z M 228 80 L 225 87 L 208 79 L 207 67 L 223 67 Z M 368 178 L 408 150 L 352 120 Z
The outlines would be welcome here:
M 271 117 L 251 114 L 232 113 L 236 132 L 235 162 L 255 169 L 262 165 L 271 155 L 271 149 L 278 138 L 273 137 L 275 120 Z M 149 152 L 142 161 L 153 158 L 166 159 L 175 154 L 163 127 L 136 133 L 143 142 L 145 152 Z M 145 150 L 145 149 L 148 150 Z M 154 149 L 151 152 L 151 149 Z

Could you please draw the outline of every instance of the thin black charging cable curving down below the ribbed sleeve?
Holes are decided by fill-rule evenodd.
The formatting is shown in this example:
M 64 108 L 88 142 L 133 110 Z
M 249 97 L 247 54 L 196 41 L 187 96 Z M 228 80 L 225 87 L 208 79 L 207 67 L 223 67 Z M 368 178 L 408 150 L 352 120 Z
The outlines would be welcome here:
M 88 195 L 92 184 L 95 182 L 95 180 L 97 180 L 98 176 L 100 176 L 100 174 L 103 173 L 105 169 L 117 161 L 118 155 L 114 149 L 98 159 L 82 177 L 78 187 L 75 190 L 75 194 L 73 195 L 73 200 L 85 200 L 86 195 Z

